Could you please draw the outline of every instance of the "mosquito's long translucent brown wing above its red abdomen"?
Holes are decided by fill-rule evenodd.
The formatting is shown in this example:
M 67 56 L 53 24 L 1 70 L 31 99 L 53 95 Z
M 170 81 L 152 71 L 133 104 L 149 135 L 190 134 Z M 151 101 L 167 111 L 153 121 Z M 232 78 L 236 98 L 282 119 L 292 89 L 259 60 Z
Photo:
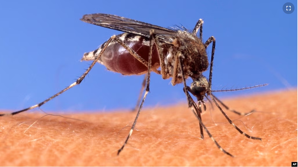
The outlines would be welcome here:
M 164 27 L 133 20 L 130 18 L 120 17 L 117 15 L 97 13 L 83 15 L 83 18 L 81 18 L 80 20 L 97 26 L 140 35 L 146 38 L 149 38 L 150 36 L 150 29 L 154 29 L 157 37 L 162 41 L 168 41 L 170 39 L 173 40 L 173 38 L 175 38 L 177 35 L 177 31 L 175 29 L 167 29 Z

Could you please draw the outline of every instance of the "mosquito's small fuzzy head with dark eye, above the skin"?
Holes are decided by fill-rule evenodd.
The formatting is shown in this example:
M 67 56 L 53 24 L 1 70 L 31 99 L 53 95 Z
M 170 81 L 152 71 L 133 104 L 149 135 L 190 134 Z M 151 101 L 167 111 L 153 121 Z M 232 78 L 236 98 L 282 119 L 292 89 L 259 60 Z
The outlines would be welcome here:
M 209 85 L 207 78 L 201 75 L 198 78 L 193 78 L 190 84 L 190 92 L 198 99 L 203 100 L 206 93 L 208 93 Z

